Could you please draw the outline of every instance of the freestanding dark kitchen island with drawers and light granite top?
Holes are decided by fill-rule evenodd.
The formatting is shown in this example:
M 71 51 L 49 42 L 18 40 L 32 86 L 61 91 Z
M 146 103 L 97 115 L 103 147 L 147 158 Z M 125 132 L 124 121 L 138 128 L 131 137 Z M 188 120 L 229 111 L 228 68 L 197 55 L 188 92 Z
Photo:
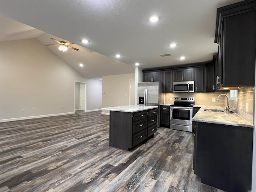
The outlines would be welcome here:
M 110 111 L 109 146 L 131 150 L 154 137 L 158 106 L 128 105 L 102 108 Z

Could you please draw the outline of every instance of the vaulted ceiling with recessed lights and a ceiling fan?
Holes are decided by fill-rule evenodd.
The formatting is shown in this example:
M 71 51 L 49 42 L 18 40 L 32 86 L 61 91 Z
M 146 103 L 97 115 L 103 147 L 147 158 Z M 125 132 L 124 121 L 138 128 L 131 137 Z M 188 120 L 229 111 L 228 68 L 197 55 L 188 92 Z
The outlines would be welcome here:
M 136 62 L 144 69 L 208 62 L 218 51 L 216 9 L 240 1 L 2 0 L 0 41 L 38 38 L 43 44 L 54 44 L 50 38 L 63 38 L 73 42 L 78 52 L 62 54 L 56 46 L 48 48 L 85 78 L 131 73 Z M 152 15 L 159 21 L 150 22 Z M 90 43 L 83 44 L 82 39 Z M 171 43 L 177 46 L 171 48 Z M 121 57 L 115 58 L 116 54 Z

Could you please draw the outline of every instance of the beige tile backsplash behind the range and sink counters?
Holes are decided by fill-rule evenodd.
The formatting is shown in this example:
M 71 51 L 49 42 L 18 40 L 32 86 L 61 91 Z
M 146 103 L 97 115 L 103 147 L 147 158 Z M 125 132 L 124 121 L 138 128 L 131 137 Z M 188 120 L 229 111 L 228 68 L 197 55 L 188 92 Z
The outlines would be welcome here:
M 165 103 L 173 104 L 174 97 L 194 97 L 195 105 L 208 106 L 227 106 L 227 98 L 221 96 L 219 102 L 216 99 L 220 94 L 227 94 L 228 92 L 214 92 L 214 93 L 165 93 Z M 247 104 L 247 109 L 246 109 Z M 242 87 L 238 89 L 236 100 L 229 100 L 230 110 L 238 114 L 246 121 L 253 124 L 254 113 L 254 87 Z

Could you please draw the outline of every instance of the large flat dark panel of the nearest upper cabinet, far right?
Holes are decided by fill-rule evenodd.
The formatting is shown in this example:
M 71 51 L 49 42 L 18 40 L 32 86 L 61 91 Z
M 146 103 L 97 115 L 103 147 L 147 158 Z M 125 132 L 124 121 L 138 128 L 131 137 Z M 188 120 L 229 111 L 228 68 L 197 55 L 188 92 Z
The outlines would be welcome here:
M 223 86 L 255 86 L 256 11 L 224 18 Z

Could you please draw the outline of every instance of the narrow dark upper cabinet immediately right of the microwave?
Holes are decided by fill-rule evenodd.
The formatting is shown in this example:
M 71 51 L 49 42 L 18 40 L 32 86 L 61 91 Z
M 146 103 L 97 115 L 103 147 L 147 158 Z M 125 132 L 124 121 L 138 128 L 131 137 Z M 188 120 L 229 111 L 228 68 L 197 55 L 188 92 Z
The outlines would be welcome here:
M 204 79 L 205 79 L 205 68 L 204 67 L 198 67 L 194 68 L 195 70 L 195 87 L 194 92 L 204 92 Z

